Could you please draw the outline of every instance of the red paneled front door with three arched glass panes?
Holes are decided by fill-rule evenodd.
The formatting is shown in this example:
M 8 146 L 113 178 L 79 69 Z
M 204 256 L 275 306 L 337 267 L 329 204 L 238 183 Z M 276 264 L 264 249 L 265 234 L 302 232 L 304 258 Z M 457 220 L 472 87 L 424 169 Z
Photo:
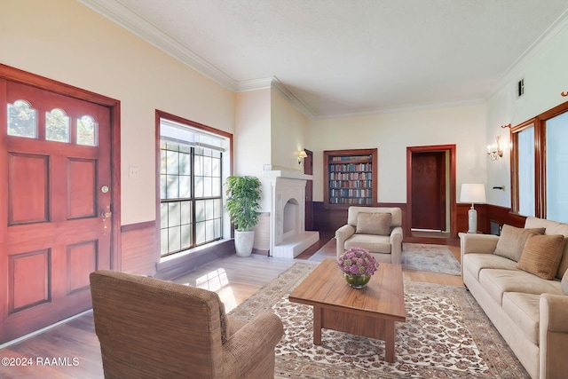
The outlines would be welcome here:
M 113 227 L 110 108 L 4 79 L 0 99 L 3 343 L 91 308 Z

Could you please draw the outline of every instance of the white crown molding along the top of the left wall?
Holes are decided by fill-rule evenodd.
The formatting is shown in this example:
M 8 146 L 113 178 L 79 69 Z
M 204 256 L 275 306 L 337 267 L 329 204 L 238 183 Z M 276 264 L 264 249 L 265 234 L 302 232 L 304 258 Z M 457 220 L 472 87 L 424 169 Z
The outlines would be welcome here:
M 139 36 L 147 43 L 153 44 L 158 49 L 166 52 L 171 57 L 192 67 L 201 75 L 207 76 L 209 79 L 225 87 L 230 91 L 237 91 L 239 83 L 231 76 L 226 75 L 217 67 L 211 65 L 207 60 L 202 59 L 199 55 L 190 51 L 181 43 L 171 38 L 155 28 L 152 24 L 139 17 L 136 13 L 130 11 L 127 7 L 114 0 L 77 0 L 79 3 L 98 12 L 106 19 L 113 21 L 115 24 Z

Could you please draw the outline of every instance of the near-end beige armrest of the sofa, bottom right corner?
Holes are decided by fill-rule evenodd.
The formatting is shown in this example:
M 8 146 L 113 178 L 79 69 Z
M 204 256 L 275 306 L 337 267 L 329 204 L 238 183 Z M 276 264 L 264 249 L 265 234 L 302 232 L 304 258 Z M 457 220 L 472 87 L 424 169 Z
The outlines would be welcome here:
M 568 373 L 568 296 L 540 295 L 540 377 L 561 378 Z

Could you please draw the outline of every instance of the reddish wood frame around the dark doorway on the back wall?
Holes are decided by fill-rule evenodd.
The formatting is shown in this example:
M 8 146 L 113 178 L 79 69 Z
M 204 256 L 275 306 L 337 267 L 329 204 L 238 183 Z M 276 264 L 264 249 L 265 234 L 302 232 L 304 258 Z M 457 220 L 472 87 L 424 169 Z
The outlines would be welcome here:
M 449 186 L 448 201 L 450 202 L 450 238 L 457 238 L 456 233 L 456 212 L 457 205 L 455 199 L 455 145 L 434 145 L 434 146 L 409 146 L 406 147 L 406 230 L 405 236 L 411 237 L 412 225 L 412 155 L 414 153 L 427 152 L 449 152 Z

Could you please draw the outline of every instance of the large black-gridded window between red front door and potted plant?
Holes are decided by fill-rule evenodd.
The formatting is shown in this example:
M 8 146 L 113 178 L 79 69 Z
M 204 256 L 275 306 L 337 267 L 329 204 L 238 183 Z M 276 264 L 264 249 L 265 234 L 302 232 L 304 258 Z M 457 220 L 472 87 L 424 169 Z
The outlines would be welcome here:
M 162 257 L 222 238 L 225 138 L 160 119 Z

